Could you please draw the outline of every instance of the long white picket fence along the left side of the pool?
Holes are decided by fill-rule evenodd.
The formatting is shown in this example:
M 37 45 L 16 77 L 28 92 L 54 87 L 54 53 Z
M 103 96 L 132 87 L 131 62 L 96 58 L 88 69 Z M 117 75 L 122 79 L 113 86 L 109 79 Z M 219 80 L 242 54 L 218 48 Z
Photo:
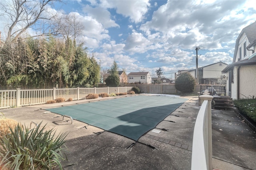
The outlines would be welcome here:
M 132 87 L 103 87 L 103 88 L 74 88 L 74 89 L 16 89 L 0 90 L 0 109 L 9 107 L 20 107 L 27 105 L 44 104 L 48 100 L 63 97 L 66 100 L 85 99 L 90 93 L 125 93 L 131 91 Z

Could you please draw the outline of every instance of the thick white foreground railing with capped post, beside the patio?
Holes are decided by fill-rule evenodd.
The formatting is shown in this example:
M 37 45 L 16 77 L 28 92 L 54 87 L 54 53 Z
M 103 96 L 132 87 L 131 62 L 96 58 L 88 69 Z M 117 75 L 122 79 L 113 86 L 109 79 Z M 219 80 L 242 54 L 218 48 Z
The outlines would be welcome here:
M 199 98 L 202 106 L 196 117 L 192 144 L 192 170 L 212 170 L 212 110 L 213 97 L 205 91 Z

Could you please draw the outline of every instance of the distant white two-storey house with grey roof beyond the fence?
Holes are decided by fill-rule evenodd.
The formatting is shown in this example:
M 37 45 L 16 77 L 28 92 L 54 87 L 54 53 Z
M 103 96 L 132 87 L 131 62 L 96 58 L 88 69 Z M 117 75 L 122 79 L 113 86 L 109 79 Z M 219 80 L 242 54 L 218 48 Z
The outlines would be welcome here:
M 131 72 L 128 74 L 128 83 L 152 83 L 150 73 L 147 72 Z

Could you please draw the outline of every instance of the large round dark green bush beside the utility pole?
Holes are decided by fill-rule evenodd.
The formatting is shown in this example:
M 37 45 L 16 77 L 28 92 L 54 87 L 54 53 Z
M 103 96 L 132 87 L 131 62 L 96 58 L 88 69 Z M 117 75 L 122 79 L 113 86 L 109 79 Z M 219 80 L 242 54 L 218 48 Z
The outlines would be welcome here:
M 196 80 L 190 73 L 182 73 L 175 80 L 175 88 L 182 93 L 190 93 L 193 92 L 196 86 Z

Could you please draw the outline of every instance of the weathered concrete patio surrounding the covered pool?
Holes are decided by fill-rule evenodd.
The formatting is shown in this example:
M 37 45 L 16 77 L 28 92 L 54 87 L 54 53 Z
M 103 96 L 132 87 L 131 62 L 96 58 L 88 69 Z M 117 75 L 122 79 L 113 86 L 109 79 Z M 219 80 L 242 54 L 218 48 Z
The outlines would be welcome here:
M 65 170 L 188 170 L 191 167 L 194 124 L 200 107 L 198 97 L 185 98 L 187 101 L 183 105 L 132 147 L 129 146 L 134 140 L 76 120 L 71 124 L 71 121 L 66 121 L 69 118 L 62 121 L 61 115 L 44 110 L 89 100 L 2 109 L 0 112 L 6 118 L 26 125 L 43 121 L 48 129 L 68 131 L 66 146 L 69 152 L 66 153 L 68 161 L 63 162 Z M 92 99 L 90 102 L 99 100 L 106 99 Z M 212 144 L 213 169 L 256 169 L 256 133 L 234 111 L 212 110 Z

